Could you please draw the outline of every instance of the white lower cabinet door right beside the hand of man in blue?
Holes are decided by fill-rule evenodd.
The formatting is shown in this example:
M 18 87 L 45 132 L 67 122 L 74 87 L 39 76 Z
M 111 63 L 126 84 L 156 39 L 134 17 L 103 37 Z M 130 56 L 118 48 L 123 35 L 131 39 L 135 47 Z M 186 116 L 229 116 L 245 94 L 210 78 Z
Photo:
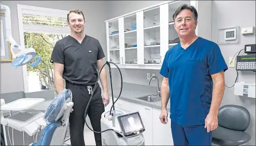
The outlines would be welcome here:
M 162 124 L 159 119 L 161 114 L 160 109 L 153 108 L 152 112 L 152 126 L 153 128 L 153 144 L 152 145 L 173 145 L 173 136 L 171 135 L 171 121 L 170 121 L 170 112 L 168 113 L 168 122 L 167 124 Z

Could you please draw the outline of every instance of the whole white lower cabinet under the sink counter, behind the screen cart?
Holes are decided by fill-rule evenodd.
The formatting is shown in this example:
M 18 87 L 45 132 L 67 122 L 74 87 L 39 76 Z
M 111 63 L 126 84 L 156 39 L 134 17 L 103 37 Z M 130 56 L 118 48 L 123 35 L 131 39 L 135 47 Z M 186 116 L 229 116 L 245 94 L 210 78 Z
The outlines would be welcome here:
M 105 108 L 105 110 L 110 110 L 111 106 L 112 99 L 110 99 L 110 103 Z M 119 99 L 114 104 L 114 107 L 126 110 L 131 113 L 139 112 L 145 128 L 145 131 L 143 132 L 145 145 L 173 145 L 170 120 L 167 122 L 167 124 L 161 123 L 159 120 L 159 116 L 161 114 L 160 109 L 139 105 L 133 102 L 124 101 L 122 99 Z

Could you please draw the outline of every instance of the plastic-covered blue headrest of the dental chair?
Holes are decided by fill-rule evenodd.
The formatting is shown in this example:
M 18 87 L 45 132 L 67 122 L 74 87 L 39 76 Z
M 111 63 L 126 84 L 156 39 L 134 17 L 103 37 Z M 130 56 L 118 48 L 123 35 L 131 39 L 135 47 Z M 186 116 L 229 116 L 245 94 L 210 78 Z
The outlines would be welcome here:
M 49 124 L 58 121 L 64 114 L 66 103 L 72 101 L 72 92 L 70 89 L 64 89 L 60 92 L 44 113 L 44 121 Z

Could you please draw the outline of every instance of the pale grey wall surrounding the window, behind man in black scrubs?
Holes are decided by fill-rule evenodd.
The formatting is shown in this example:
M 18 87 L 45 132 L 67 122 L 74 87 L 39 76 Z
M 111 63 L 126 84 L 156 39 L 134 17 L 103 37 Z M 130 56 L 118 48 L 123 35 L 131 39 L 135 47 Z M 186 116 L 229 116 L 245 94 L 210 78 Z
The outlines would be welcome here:
M 81 9 L 86 20 L 86 34 L 98 39 L 106 55 L 105 23 L 107 19 L 107 1 L 1 1 L 10 7 L 13 38 L 20 44 L 17 20 L 17 4 L 48 7 L 53 9 Z M 106 58 L 105 58 L 106 59 Z M 14 69 L 10 62 L 1 62 L 1 94 L 24 91 L 22 68 Z M 16 86 L 16 87 L 14 87 Z

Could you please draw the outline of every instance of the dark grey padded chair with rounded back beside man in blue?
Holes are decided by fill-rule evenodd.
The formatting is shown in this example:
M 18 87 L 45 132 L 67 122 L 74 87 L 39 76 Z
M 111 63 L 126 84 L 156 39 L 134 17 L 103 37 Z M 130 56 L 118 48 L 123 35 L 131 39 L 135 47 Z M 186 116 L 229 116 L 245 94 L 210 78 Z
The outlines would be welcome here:
M 250 124 L 250 113 L 238 105 L 220 107 L 219 126 L 212 131 L 212 143 L 217 145 L 244 145 L 251 140 L 249 133 L 244 132 Z

